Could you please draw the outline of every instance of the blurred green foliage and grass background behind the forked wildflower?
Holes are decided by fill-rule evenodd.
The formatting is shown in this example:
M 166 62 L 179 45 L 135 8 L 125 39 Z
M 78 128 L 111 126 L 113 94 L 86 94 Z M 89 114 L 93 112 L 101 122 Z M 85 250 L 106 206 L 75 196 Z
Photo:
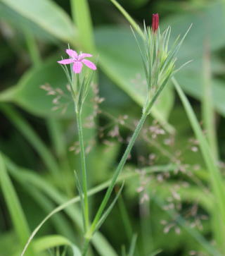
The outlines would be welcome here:
M 85 3 L 89 5 L 86 6 Z M 176 75 L 224 172 L 225 2 L 118 0 L 140 26 L 160 14 L 171 42 L 184 35 Z M 107 181 L 141 115 L 145 81 L 130 25 L 110 0 L 0 1 L 0 255 L 19 255 L 51 210 L 77 195 L 79 144 L 70 92 L 56 61 L 94 54 L 98 72 L 84 108 L 89 188 Z M 172 83 L 160 96 L 124 169 L 122 197 L 90 255 L 220 255 L 207 170 Z M 91 197 L 94 214 L 103 190 Z M 27 255 L 82 245 L 79 205 L 46 221 Z M 58 240 L 57 240 L 58 239 Z M 68 253 L 70 253 L 68 251 Z M 54 255 L 54 254 L 53 254 Z M 69 254 L 68 254 L 69 255 Z

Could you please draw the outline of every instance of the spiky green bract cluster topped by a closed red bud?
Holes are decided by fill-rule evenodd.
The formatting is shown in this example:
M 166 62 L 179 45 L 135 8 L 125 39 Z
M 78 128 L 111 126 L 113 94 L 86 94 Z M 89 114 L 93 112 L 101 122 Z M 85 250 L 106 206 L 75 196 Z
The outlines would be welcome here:
M 147 97 L 146 104 L 143 106 L 143 112 L 149 114 L 151 107 L 155 100 L 158 99 L 165 85 L 167 85 L 169 78 L 190 62 L 184 63 L 179 68 L 175 66 L 176 54 L 190 29 L 191 26 L 180 40 L 180 36 L 178 36 L 171 48 L 169 48 L 171 27 L 169 26 L 165 31 L 160 32 L 158 13 L 153 14 L 151 28 L 147 27 L 144 23 L 144 30 L 141 32 L 143 47 L 141 47 L 139 39 L 137 39 L 134 30 L 132 30 L 141 52 L 143 70 L 147 82 Z M 140 31 L 139 29 L 138 32 Z

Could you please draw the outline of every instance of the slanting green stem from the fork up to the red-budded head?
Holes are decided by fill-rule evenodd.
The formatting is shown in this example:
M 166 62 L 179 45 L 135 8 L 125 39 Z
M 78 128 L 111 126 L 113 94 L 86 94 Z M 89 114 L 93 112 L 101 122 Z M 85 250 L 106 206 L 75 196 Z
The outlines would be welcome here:
M 115 183 L 117 182 L 117 178 L 120 175 L 120 173 L 124 167 L 124 164 L 127 161 L 127 158 L 129 157 L 129 153 L 131 152 L 131 149 L 134 146 L 134 142 L 135 142 L 136 138 L 138 137 L 138 135 L 141 131 L 141 128 L 143 127 L 143 124 L 146 121 L 147 116 L 148 116 L 148 113 L 146 113 L 146 112 L 144 112 L 142 114 L 141 119 L 140 119 L 138 125 L 136 126 L 136 129 L 134 130 L 131 140 L 129 141 L 129 144 L 127 145 L 127 149 L 125 150 L 125 152 L 122 156 L 122 159 L 120 160 L 120 163 L 117 166 L 117 169 L 113 175 L 112 181 L 108 187 L 108 190 L 105 193 L 105 197 L 103 198 L 103 201 L 101 202 L 98 212 L 96 213 L 96 217 L 94 218 L 94 221 L 91 224 L 91 228 L 89 229 L 88 233 L 86 234 L 87 238 L 91 237 L 95 231 L 96 224 L 98 223 L 99 219 L 101 218 L 101 215 L 103 214 L 103 210 L 105 209 L 105 206 L 106 206 L 106 204 L 109 200 L 109 197 L 113 191 Z

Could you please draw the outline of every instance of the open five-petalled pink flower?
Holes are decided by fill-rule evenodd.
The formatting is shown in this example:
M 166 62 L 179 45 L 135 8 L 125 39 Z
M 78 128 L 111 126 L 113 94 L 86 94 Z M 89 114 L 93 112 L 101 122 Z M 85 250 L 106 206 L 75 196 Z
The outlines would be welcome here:
M 70 59 L 63 59 L 62 61 L 57 61 L 57 62 L 63 65 L 73 63 L 72 70 L 74 71 L 74 73 L 77 73 L 77 74 L 81 73 L 83 64 L 93 69 L 94 71 L 97 69 L 93 62 L 89 61 L 88 59 L 85 59 L 87 57 L 92 57 L 91 54 L 81 53 L 78 55 L 77 51 L 74 51 L 71 49 L 66 49 L 65 51 L 70 56 Z

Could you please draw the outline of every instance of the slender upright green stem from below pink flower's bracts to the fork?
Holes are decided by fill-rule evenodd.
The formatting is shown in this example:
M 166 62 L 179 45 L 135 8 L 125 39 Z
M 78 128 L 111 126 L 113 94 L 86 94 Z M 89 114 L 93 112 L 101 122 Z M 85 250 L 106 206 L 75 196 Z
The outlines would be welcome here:
M 86 177 L 86 159 L 84 150 L 84 138 L 82 130 L 82 111 L 77 113 L 77 128 L 79 136 L 79 147 L 81 157 L 81 168 L 82 168 L 82 190 L 84 193 L 84 231 L 89 227 L 89 201 L 87 196 L 87 177 Z

